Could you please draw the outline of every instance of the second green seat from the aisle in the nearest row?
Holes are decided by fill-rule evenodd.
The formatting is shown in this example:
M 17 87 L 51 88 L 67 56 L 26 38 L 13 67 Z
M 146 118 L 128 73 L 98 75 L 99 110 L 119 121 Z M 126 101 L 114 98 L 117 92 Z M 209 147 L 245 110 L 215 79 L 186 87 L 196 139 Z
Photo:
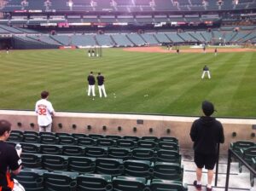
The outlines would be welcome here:
M 143 177 L 113 177 L 113 191 L 148 191 Z

